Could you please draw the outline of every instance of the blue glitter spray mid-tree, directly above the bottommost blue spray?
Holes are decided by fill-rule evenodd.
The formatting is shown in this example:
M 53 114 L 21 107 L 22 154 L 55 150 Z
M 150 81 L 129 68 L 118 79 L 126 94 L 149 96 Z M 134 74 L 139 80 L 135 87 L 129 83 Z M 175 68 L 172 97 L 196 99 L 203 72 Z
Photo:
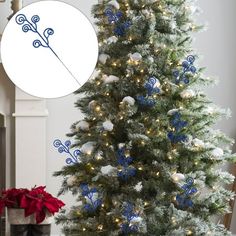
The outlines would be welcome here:
M 117 161 L 118 164 L 122 167 L 121 170 L 118 171 L 118 177 L 122 180 L 128 180 L 130 177 L 136 174 L 136 169 L 130 164 L 133 161 L 133 158 L 125 155 L 125 148 L 120 148 L 117 151 Z

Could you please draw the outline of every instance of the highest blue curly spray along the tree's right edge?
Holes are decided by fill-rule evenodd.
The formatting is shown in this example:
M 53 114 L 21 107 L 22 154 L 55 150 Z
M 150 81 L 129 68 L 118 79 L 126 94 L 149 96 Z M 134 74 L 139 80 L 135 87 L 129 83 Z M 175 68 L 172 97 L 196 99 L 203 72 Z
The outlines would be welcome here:
M 185 61 L 182 63 L 182 71 L 174 70 L 173 76 L 175 77 L 175 83 L 179 84 L 181 82 L 184 82 L 185 84 L 189 83 L 189 79 L 187 77 L 187 73 L 190 72 L 192 74 L 195 74 L 197 72 L 196 67 L 193 65 L 195 62 L 195 57 L 192 55 L 189 55 Z

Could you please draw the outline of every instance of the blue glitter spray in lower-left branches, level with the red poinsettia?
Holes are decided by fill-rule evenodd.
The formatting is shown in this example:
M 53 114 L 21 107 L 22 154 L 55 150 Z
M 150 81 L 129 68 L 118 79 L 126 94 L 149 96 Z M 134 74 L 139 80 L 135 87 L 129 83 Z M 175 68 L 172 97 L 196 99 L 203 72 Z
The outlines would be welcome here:
M 101 199 L 94 199 L 95 195 L 98 194 L 96 188 L 89 188 L 88 184 L 81 184 L 82 196 L 88 200 L 88 203 L 84 205 L 84 210 L 89 213 L 94 213 L 101 205 Z

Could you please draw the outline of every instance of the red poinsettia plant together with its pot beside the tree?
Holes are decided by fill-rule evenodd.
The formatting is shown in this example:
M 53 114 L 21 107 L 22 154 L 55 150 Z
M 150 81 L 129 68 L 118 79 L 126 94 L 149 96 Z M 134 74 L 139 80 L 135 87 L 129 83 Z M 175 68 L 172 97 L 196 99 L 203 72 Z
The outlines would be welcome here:
M 0 214 L 6 207 L 11 236 L 48 236 L 52 216 L 65 204 L 45 191 L 44 186 L 8 189 L 0 197 Z

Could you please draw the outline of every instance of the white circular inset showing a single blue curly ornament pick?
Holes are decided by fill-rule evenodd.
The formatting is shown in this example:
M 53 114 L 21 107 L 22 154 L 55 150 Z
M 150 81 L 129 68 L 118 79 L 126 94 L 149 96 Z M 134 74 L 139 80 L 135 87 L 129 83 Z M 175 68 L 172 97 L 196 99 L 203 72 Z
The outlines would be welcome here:
M 96 32 L 78 9 L 58 1 L 23 8 L 6 26 L 3 67 L 13 83 L 36 97 L 57 98 L 79 89 L 98 58 Z

